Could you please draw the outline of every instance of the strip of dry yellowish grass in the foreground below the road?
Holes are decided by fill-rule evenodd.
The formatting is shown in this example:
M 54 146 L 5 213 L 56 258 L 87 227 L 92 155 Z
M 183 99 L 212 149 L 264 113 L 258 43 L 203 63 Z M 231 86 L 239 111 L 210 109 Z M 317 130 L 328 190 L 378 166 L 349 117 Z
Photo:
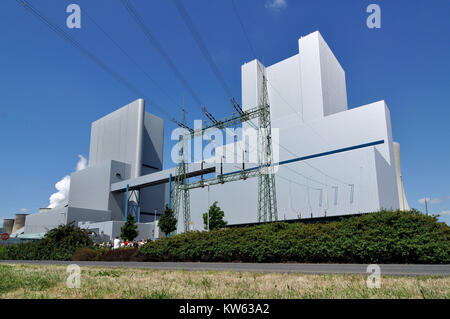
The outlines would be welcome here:
M 0 265 L 0 298 L 450 298 L 450 277 L 82 267 L 81 287 L 66 287 L 66 266 Z

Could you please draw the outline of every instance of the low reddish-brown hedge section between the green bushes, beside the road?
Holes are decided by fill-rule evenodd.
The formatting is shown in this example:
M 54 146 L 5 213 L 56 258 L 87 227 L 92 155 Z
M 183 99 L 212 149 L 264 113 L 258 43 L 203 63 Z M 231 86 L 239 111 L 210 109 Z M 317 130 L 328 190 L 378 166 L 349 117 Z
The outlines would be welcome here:
M 73 261 L 141 261 L 137 248 L 92 249 L 79 248 L 72 256 Z

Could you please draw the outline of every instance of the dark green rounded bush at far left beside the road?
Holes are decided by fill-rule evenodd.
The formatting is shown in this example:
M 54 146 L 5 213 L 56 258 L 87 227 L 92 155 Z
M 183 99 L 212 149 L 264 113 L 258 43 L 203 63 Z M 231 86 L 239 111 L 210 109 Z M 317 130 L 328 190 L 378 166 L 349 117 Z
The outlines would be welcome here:
M 71 260 L 78 248 L 92 244 L 89 233 L 71 223 L 48 231 L 39 241 L 6 246 L 4 259 Z

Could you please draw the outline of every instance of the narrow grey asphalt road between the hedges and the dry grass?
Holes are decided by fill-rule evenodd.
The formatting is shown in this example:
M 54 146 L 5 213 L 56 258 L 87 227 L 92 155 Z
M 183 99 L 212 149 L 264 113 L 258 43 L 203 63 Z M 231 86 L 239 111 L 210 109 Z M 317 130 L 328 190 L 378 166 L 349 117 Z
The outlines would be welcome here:
M 162 270 L 226 270 L 249 272 L 279 272 L 302 274 L 364 274 L 367 275 L 367 264 L 277 264 L 277 263 L 200 263 L 200 262 L 108 262 L 108 261 L 29 261 L 2 260 L 0 263 L 34 264 L 34 265 L 68 265 L 94 267 L 128 267 Z M 380 264 L 381 275 L 440 275 L 450 276 L 450 265 L 397 265 Z

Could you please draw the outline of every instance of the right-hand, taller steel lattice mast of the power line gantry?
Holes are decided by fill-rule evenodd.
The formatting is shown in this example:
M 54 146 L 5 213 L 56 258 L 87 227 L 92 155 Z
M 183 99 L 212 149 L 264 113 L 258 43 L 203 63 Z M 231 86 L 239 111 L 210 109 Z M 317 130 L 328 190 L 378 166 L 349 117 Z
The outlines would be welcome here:
M 265 74 L 262 85 L 258 132 L 258 222 L 278 220 L 275 174 L 272 166 L 272 126 Z

